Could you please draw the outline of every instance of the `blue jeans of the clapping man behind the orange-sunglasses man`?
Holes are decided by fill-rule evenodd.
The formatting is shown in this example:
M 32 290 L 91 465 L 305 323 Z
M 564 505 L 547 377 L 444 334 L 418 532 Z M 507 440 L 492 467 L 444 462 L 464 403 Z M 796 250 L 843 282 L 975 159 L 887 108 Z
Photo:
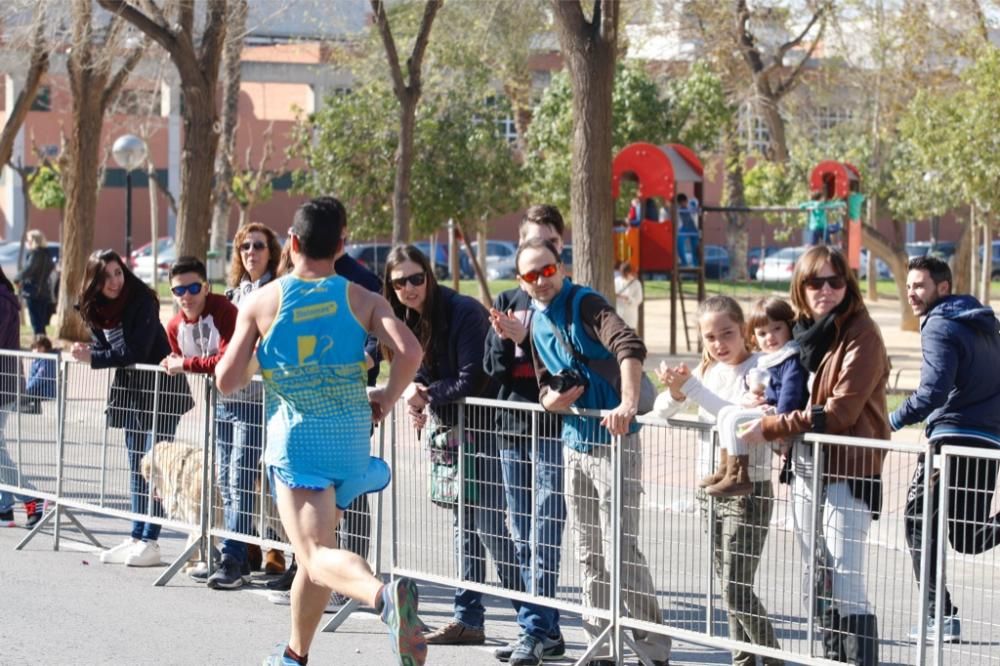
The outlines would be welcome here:
M 562 442 L 539 438 L 532 456 L 529 437 L 501 438 L 500 464 L 514 531 L 517 562 L 527 591 L 538 596 L 555 597 L 559 583 L 559 559 L 566 503 L 563 501 Z M 534 470 L 534 512 L 532 512 L 532 470 Z M 535 552 L 532 557 L 532 516 L 534 515 Z M 532 581 L 531 566 L 535 565 Z M 517 623 L 526 634 L 544 639 L 560 634 L 559 610 L 536 604 L 522 604 Z

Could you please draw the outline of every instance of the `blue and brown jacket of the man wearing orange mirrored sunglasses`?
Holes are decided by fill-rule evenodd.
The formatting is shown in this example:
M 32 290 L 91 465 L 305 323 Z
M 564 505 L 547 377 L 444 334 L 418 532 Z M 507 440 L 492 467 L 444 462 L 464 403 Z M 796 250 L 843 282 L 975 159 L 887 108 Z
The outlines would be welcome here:
M 573 287 L 575 286 L 575 289 Z M 566 321 L 567 302 L 570 292 L 573 292 L 573 302 L 570 306 L 571 321 Z M 538 309 L 538 304 L 534 304 Z M 610 325 L 602 324 L 599 319 L 611 320 Z M 620 324 L 620 325 L 619 325 Z M 575 407 L 583 409 L 614 409 L 621 403 L 618 391 L 597 372 L 582 367 L 574 360 L 573 355 L 559 341 L 554 329 L 562 332 L 566 341 L 588 359 L 599 361 L 616 359 L 621 362 L 625 358 L 645 360 L 646 347 L 635 331 L 628 328 L 597 292 L 579 285 L 573 285 L 569 278 L 563 283 L 562 289 L 545 308 L 541 309 L 531 323 L 531 341 L 537 361 L 543 366 L 536 369 L 539 384 L 546 385 L 549 375 L 555 375 L 563 370 L 575 370 L 588 380 L 587 389 Z M 589 331 L 605 340 L 599 340 Z M 606 333 L 602 335 L 600 331 Z M 633 422 L 630 432 L 636 432 L 639 426 Z M 588 452 L 595 444 L 607 444 L 611 435 L 593 417 L 566 416 L 563 418 L 563 442 L 576 451 Z

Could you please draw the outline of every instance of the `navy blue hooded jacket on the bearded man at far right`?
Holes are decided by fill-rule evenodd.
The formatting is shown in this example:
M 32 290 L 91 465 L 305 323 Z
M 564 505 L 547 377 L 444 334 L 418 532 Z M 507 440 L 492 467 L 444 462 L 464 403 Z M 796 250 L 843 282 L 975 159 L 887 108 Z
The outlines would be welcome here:
M 929 440 L 1000 446 L 1000 324 L 972 296 L 946 296 L 920 326 L 920 386 L 889 416 L 893 430 L 926 421 Z

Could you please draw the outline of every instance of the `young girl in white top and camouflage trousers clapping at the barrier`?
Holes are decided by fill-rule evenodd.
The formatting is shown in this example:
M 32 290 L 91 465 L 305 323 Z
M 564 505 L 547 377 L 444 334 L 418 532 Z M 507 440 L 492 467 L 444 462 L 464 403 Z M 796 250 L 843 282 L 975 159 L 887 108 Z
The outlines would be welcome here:
M 760 355 L 749 349 L 739 303 L 728 296 L 712 296 L 702 301 L 698 307 L 698 327 L 705 350 L 702 361 L 694 373 L 683 364 L 672 369 L 660 365 L 657 376 L 669 388 L 656 398 L 652 412 L 655 416 L 672 416 L 691 400 L 698 404 L 700 421 L 715 423 L 724 407 L 739 403 L 747 392 L 747 374 L 756 367 Z M 713 448 L 711 433 L 705 431 L 698 452 L 698 467 L 703 475 L 715 468 Z M 698 501 L 706 529 L 716 535 L 712 557 L 726 600 L 730 637 L 777 648 L 767 609 L 753 591 L 754 575 L 774 509 L 771 449 L 751 448 L 748 474 L 752 501 L 745 497 L 718 498 L 715 510 L 709 512 L 709 497 L 703 489 L 698 491 Z M 753 663 L 754 659 L 754 655 L 745 652 L 733 655 L 733 663 Z M 765 658 L 764 663 L 782 662 Z

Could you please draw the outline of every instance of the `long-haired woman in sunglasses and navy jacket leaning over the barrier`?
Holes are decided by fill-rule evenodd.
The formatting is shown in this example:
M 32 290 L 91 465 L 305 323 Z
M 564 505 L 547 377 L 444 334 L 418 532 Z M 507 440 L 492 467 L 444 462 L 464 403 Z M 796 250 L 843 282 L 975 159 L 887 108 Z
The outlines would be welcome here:
M 403 394 L 418 430 L 430 426 L 455 427 L 460 398 L 496 395 L 496 387 L 483 370 L 489 313 L 475 299 L 437 284 L 427 257 L 412 245 L 393 248 L 386 259 L 385 295 L 397 317 L 413 331 L 424 352 L 416 380 Z M 433 423 L 431 423 L 433 419 Z M 523 590 L 520 572 L 506 523 L 500 458 L 492 436 L 494 416 L 487 410 L 468 409 L 462 446 L 473 455 L 475 498 L 465 506 L 465 534 L 458 532 L 455 505 L 455 549 L 461 555 L 463 580 L 486 580 L 486 551 L 497 566 L 504 587 Z M 454 619 L 427 634 L 430 645 L 481 645 L 485 608 L 483 595 L 455 591 Z M 512 602 L 518 610 L 520 604 Z

